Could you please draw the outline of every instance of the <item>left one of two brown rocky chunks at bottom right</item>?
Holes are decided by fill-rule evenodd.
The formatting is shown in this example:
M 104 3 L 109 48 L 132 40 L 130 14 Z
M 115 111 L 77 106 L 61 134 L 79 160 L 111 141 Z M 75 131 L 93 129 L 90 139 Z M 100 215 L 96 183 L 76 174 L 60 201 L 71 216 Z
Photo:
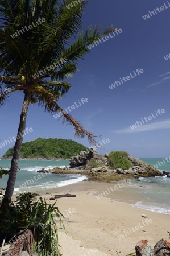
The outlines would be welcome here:
M 154 256 L 154 251 L 152 250 L 151 245 L 147 240 L 140 240 L 136 244 L 135 250 L 136 256 Z

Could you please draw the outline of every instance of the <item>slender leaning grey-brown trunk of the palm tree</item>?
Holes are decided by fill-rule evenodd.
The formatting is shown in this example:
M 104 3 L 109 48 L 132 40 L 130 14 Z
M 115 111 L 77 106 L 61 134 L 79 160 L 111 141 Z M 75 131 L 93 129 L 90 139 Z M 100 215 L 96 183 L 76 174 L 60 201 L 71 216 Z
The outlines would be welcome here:
M 9 179 L 7 181 L 7 187 L 5 191 L 5 197 L 8 197 L 9 200 L 11 200 L 11 197 L 14 192 L 16 173 L 18 171 L 18 160 L 20 155 L 20 149 L 22 146 L 24 130 L 26 129 L 26 118 L 27 118 L 29 103 L 30 103 L 30 95 L 25 94 L 24 101 L 23 101 L 23 108 L 20 114 L 18 134 L 16 136 L 16 142 L 14 146 L 14 154 L 11 161 Z

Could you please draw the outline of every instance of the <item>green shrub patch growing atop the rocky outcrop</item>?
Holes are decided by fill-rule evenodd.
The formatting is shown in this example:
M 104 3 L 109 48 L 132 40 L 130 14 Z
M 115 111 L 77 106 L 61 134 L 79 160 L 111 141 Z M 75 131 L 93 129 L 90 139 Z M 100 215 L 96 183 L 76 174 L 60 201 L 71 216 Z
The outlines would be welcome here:
M 132 167 L 132 163 L 127 159 L 127 155 L 126 151 L 111 151 L 109 154 L 110 166 L 114 169 L 129 169 Z

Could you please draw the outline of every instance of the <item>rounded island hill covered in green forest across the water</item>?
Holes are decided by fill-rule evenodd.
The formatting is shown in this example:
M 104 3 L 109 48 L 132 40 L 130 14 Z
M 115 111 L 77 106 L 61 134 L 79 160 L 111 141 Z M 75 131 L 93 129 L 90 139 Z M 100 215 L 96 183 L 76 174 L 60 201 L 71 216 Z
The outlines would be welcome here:
M 42 139 L 25 142 L 22 144 L 20 158 L 64 158 L 80 154 L 80 151 L 87 150 L 82 144 L 71 139 Z M 3 158 L 12 157 L 14 147 L 6 151 Z

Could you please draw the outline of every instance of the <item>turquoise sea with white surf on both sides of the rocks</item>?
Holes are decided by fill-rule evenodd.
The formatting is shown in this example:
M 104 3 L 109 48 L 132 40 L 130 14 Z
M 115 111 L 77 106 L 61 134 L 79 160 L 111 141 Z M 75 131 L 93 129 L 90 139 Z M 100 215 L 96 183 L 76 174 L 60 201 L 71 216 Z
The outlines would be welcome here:
M 169 162 L 163 161 L 161 158 L 145 158 L 141 159 L 144 162 L 154 166 L 158 164 L 160 171 L 170 172 Z M 3 168 L 10 167 L 10 160 L 0 160 L 0 166 Z M 72 175 L 72 174 L 44 174 L 37 172 L 42 168 L 51 169 L 55 166 L 64 168 L 69 166 L 69 161 L 27 161 L 20 160 L 18 174 L 14 193 L 22 191 L 37 191 L 48 188 L 61 187 L 88 179 L 87 176 Z M 0 179 L 0 187 L 5 187 L 7 176 Z M 135 195 L 136 202 L 134 207 L 151 210 L 153 212 L 170 214 L 170 178 L 163 177 L 140 177 L 139 179 L 131 180 L 131 184 L 122 188 L 130 199 Z

